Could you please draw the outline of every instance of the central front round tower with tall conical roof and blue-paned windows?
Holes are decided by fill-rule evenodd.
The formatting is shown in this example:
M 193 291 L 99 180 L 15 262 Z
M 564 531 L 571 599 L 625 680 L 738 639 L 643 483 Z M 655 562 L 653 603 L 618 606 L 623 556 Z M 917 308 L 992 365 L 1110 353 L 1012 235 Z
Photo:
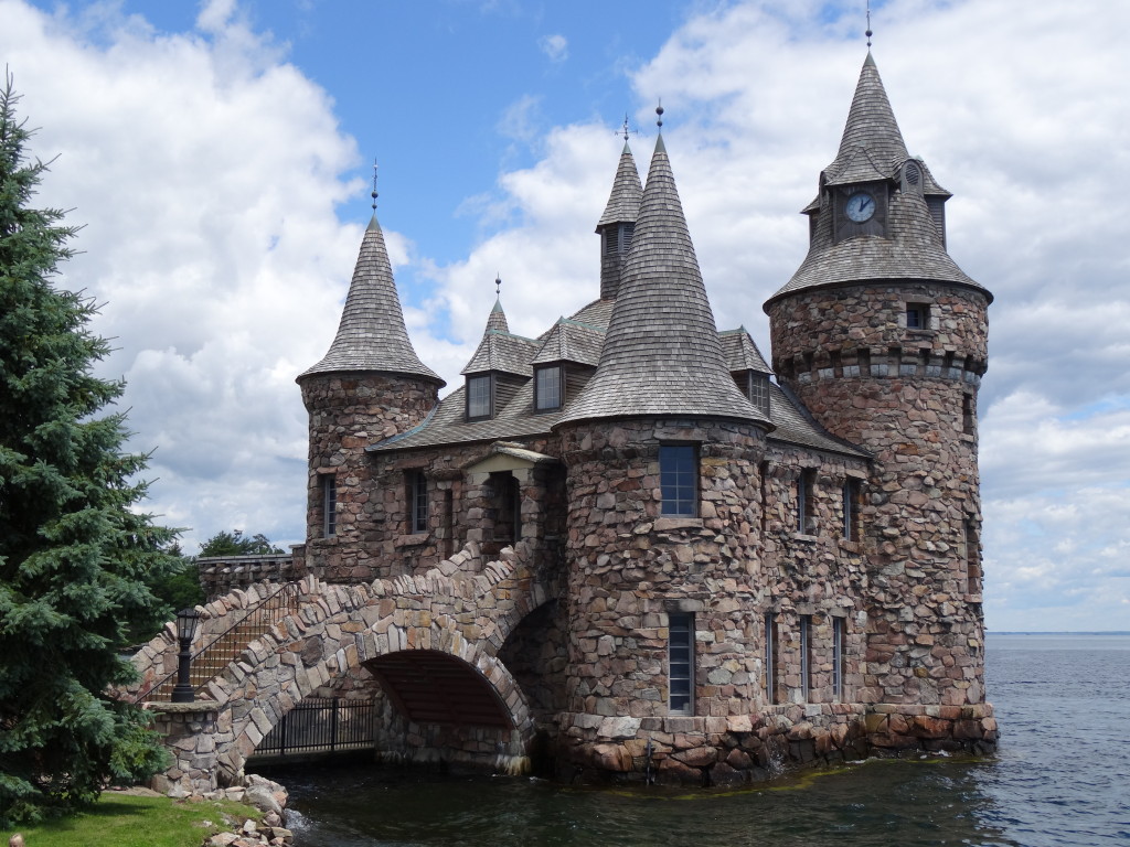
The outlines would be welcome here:
M 597 370 L 555 426 L 568 489 L 562 735 L 577 759 L 610 740 L 594 716 L 631 734 L 636 718 L 753 711 L 749 505 L 771 428 L 728 369 L 660 138 Z M 722 579 L 736 586 L 724 600 Z M 723 631 L 730 649 L 696 656 L 696 639 Z

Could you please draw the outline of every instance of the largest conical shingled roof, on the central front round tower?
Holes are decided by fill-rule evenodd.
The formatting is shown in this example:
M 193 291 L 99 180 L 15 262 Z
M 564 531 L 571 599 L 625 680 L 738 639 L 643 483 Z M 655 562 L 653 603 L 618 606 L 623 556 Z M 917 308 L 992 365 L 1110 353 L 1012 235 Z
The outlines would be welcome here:
M 559 424 L 655 414 L 767 424 L 727 367 L 662 137 L 600 364 Z

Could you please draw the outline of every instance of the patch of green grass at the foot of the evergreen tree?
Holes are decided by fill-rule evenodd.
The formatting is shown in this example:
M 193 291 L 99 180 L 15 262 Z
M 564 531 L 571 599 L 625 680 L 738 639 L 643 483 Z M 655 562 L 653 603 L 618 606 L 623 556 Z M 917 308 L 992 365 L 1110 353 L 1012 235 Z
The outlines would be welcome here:
M 5 830 L 0 845 L 7 847 L 12 833 L 23 832 L 27 847 L 200 847 L 206 837 L 226 829 L 225 812 L 241 821 L 262 819 L 257 810 L 227 801 L 188 802 L 106 792 L 79 814 Z

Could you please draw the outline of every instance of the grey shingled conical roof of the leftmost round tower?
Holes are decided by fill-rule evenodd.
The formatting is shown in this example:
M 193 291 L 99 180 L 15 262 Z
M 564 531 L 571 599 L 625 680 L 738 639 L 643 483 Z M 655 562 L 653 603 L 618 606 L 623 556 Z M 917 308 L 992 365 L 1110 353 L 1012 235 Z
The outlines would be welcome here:
M 360 243 L 338 334 L 322 360 L 302 373 L 298 379 L 313 374 L 357 370 L 405 374 L 436 382 L 441 386 L 445 384 L 420 361 L 408 339 L 376 212 Z

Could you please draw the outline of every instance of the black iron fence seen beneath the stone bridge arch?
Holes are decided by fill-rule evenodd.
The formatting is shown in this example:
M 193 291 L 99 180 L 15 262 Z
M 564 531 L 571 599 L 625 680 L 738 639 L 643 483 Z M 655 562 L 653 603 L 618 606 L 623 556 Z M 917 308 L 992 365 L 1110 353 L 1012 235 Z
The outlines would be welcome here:
M 332 753 L 374 744 L 372 700 L 310 697 L 282 716 L 255 748 L 255 756 Z

